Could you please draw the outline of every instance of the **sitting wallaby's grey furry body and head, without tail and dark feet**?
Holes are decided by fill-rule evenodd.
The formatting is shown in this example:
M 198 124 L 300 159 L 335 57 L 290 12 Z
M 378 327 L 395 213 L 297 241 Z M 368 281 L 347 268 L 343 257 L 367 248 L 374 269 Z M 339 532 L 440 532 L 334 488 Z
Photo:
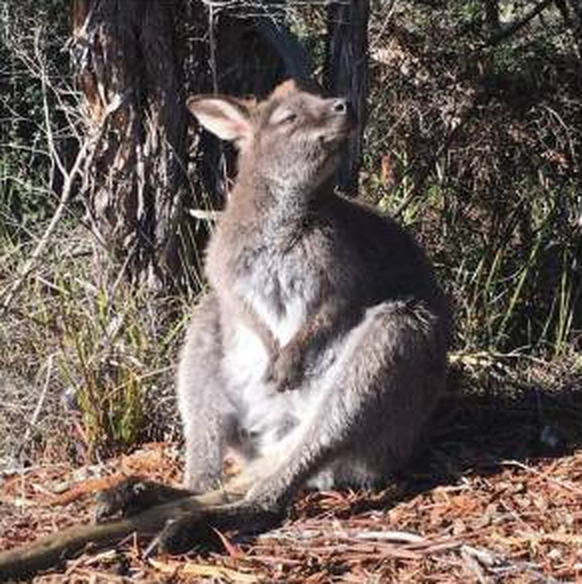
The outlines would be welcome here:
M 226 448 L 248 462 L 240 509 L 280 509 L 306 484 L 385 481 L 445 384 L 451 319 L 429 261 L 332 192 L 353 127 L 344 101 L 287 82 L 258 105 L 189 107 L 240 155 L 179 365 L 186 486 L 220 484 Z

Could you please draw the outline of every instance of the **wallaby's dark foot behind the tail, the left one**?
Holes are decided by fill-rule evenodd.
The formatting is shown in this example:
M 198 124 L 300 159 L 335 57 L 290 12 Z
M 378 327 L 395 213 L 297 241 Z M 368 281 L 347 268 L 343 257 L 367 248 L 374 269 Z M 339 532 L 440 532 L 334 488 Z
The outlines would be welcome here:
M 139 476 L 128 477 L 119 484 L 95 495 L 95 522 L 114 516 L 129 517 L 144 509 L 190 496 L 184 489 L 168 487 Z

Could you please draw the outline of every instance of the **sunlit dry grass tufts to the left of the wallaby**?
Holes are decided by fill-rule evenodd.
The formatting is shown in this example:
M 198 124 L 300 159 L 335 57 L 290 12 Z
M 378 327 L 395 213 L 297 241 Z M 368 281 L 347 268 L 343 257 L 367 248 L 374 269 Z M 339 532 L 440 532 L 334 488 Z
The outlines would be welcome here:
M 0 297 L 30 245 L 0 247 Z M 0 327 L 0 471 L 87 463 L 174 436 L 173 365 L 186 307 L 98 270 L 96 242 L 65 221 Z M 163 420 L 163 421 L 161 421 Z

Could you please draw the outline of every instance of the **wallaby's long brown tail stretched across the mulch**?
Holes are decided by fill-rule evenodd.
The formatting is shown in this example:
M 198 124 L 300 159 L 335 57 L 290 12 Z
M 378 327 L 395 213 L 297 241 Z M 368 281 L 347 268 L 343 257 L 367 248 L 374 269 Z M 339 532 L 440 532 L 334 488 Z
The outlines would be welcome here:
M 232 502 L 226 491 L 219 489 L 204 495 L 156 505 L 146 511 L 119 521 L 96 525 L 76 525 L 59 533 L 43 537 L 30 545 L 0 553 L 0 582 L 25 578 L 48 570 L 81 552 L 88 544 L 103 547 L 119 541 L 133 532 L 154 535 L 168 520 L 202 513 Z

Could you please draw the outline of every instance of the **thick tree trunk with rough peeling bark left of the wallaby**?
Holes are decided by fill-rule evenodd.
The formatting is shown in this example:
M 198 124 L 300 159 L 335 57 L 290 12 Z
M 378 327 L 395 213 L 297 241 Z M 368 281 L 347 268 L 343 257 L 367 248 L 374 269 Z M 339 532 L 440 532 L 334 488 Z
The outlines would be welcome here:
M 187 112 L 175 20 L 178 0 L 76 0 L 74 56 L 90 134 L 96 233 L 132 280 L 180 286 Z

